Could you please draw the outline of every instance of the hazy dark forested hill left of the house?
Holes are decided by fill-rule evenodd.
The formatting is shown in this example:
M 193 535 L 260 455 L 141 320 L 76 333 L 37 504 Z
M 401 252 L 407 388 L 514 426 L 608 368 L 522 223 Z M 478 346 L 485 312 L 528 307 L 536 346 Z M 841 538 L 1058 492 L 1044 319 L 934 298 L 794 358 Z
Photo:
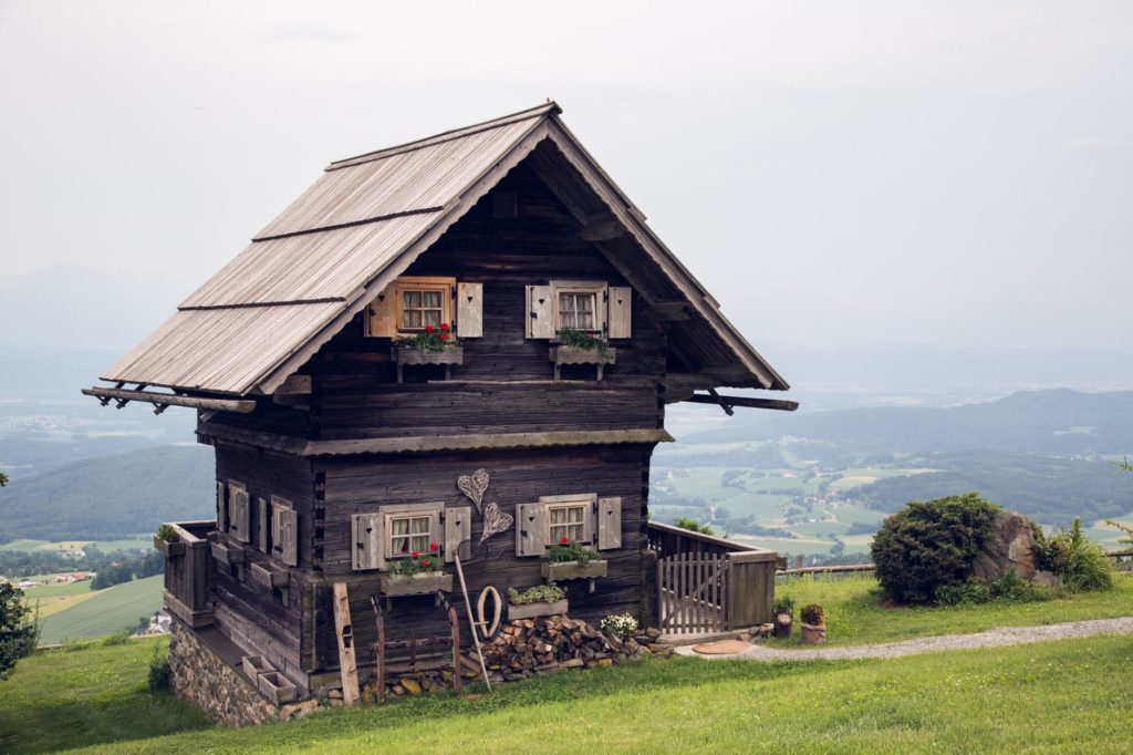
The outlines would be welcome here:
M 214 512 L 213 453 L 164 446 L 84 459 L 0 489 L 0 534 L 113 540 Z

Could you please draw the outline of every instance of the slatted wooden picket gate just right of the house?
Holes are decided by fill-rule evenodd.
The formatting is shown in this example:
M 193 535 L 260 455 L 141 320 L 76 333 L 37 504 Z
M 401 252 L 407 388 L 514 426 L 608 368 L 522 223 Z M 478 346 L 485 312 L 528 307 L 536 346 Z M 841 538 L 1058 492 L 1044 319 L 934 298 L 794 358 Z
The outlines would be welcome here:
M 683 635 L 727 629 L 727 572 L 724 553 L 676 553 L 658 559 L 661 630 Z

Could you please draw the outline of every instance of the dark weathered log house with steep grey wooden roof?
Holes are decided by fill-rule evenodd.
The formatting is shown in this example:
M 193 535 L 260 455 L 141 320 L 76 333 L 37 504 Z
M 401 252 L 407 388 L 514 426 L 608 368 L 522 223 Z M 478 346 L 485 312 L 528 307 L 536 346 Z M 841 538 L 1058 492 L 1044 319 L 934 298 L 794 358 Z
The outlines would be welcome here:
M 215 520 L 174 525 L 164 549 L 179 633 L 305 695 L 338 678 L 335 583 L 365 675 L 374 605 L 391 641 L 449 631 L 432 592 L 390 596 L 392 565 L 436 544 L 462 613 L 458 555 L 475 603 L 543 582 L 563 537 L 604 562 L 562 583 L 572 617 L 657 620 L 647 501 L 666 405 L 792 405 L 716 392 L 787 384 L 560 113 L 331 163 L 84 391 L 195 407 L 215 449 Z M 443 349 L 398 346 L 426 329 Z M 566 331 L 604 345 L 569 348 Z

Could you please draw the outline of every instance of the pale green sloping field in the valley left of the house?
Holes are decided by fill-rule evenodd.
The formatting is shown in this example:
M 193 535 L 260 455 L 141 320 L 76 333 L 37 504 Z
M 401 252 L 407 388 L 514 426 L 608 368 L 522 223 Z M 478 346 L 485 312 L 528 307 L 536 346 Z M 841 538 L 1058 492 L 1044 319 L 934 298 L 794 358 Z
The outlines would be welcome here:
M 159 574 L 107 587 L 96 591 L 93 597 L 48 616 L 40 631 L 40 644 L 101 637 L 136 626 L 140 617 L 153 616 L 161 608 L 163 580 Z

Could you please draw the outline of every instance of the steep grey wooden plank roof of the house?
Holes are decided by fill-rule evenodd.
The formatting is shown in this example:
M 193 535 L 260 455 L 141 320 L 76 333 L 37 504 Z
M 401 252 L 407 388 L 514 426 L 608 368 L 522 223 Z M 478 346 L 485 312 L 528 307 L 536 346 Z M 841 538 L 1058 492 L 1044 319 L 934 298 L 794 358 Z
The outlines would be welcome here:
M 653 260 L 638 264 L 659 264 L 668 288 L 690 297 L 699 325 L 719 343 L 701 348 L 705 333 L 698 333 L 687 339 L 689 348 L 707 349 L 700 360 L 719 363 L 719 374 L 735 373 L 722 384 L 786 388 L 659 245 L 644 215 L 562 126 L 560 112 L 550 102 L 331 163 L 102 379 L 223 395 L 273 391 L 508 170 L 550 142 L 557 147 L 553 154 L 573 166 L 565 168 L 572 190 L 594 192 L 590 201 L 598 197 L 627 223 Z M 546 161 L 547 150 L 540 154 Z

